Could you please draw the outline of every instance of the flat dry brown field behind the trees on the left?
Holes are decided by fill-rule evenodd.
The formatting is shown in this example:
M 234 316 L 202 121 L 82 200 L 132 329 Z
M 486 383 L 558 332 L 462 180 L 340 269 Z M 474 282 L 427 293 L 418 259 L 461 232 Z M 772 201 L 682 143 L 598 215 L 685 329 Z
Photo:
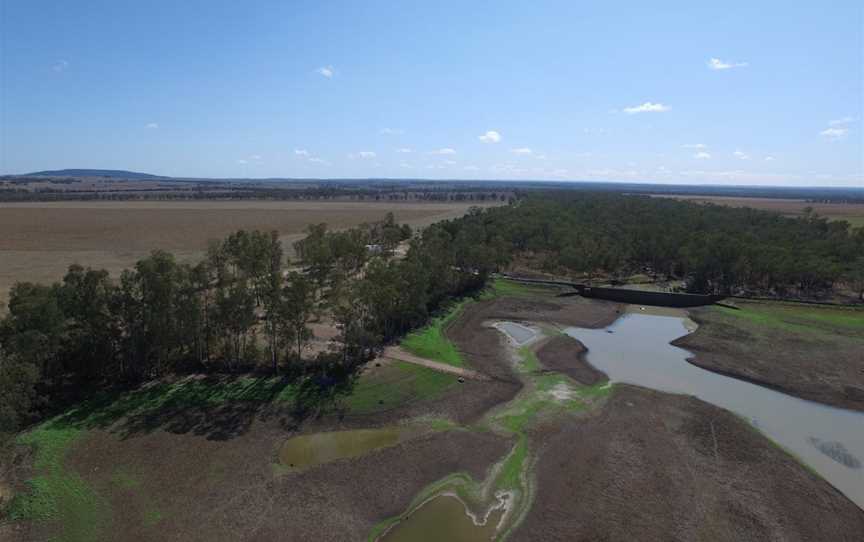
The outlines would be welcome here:
M 297 201 L 51 202 L 0 204 L 0 303 L 17 281 L 52 282 L 68 266 L 122 269 L 154 249 L 199 258 L 238 229 L 279 231 L 286 251 L 308 224 L 347 228 L 381 220 L 422 227 L 464 214 L 469 203 Z

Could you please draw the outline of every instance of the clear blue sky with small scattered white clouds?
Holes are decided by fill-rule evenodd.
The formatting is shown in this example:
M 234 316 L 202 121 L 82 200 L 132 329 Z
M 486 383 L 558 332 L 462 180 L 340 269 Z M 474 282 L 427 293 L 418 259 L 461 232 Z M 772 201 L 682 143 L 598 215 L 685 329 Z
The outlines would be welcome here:
M 859 1 L 0 3 L 2 173 L 864 186 Z

